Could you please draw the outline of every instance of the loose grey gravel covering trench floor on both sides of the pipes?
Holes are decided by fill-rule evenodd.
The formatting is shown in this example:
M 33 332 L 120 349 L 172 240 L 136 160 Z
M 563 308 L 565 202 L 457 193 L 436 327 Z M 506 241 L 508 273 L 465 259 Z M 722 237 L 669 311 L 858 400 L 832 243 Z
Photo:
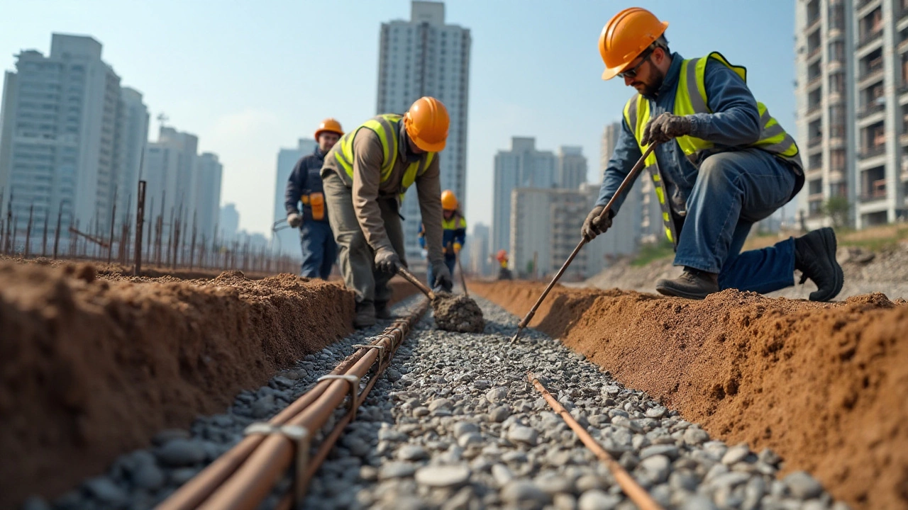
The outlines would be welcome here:
M 400 303 L 395 313 L 419 299 Z M 476 301 L 483 333 L 439 330 L 431 313 L 419 321 L 312 479 L 307 508 L 636 508 L 528 383 L 528 371 L 666 508 L 848 508 L 807 473 L 776 479 L 781 459 L 771 450 L 711 440 L 558 340 L 528 329 L 509 345 L 518 318 Z M 222 415 L 200 417 L 188 431 L 163 431 L 151 448 L 121 456 L 104 476 L 53 505 L 33 498 L 24 508 L 152 508 L 239 442 L 245 427 L 277 414 L 350 354 L 352 344 L 387 324 L 242 392 Z M 290 486 L 289 477 L 282 480 L 262 508 L 273 507 Z

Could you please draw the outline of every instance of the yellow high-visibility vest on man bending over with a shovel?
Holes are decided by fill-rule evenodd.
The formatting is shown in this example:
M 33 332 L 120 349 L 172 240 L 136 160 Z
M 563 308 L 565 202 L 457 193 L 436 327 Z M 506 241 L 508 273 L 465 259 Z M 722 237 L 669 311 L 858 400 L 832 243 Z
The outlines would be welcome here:
M 353 179 L 353 137 L 360 129 L 369 129 L 379 136 L 381 142 L 382 160 L 381 160 L 381 182 L 388 181 L 391 177 L 391 170 L 394 163 L 397 162 L 398 151 L 400 148 L 400 122 L 402 115 L 386 113 L 373 117 L 362 123 L 359 127 L 343 135 L 338 142 L 340 148 L 334 152 L 335 159 L 344 172 Z M 403 173 L 403 179 L 400 180 L 400 198 L 403 199 L 404 193 L 413 185 L 416 178 L 429 169 L 432 160 L 435 159 L 435 152 L 425 152 L 419 158 L 419 161 L 412 162 L 407 166 Z

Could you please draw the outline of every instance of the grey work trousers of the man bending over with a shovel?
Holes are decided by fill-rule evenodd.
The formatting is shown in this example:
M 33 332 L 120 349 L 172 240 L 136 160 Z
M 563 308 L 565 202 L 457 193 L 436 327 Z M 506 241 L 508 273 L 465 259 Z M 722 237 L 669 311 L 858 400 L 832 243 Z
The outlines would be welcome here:
M 375 251 L 366 242 L 366 237 L 360 229 L 360 222 L 356 219 L 352 190 L 334 172 L 325 175 L 321 184 L 328 206 L 328 221 L 334 232 L 334 240 L 338 243 L 344 285 L 356 293 L 357 303 L 379 305 L 387 303 L 391 299 L 388 280 L 394 275 L 375 269 Z M 380 198 L 378 202 L 381 221 L 385 224 L 391 247 L 406 267 L 403 228 L 400 225 L 397 199 Z

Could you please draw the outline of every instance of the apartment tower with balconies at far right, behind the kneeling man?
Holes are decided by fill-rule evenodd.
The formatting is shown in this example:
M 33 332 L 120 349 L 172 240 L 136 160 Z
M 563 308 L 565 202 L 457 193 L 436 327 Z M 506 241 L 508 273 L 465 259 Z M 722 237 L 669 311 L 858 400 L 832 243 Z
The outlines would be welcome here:
M 855 228 L 908 211 L 908 0 L 798 0 L 799 209 L 809 228 L 846 197 Z

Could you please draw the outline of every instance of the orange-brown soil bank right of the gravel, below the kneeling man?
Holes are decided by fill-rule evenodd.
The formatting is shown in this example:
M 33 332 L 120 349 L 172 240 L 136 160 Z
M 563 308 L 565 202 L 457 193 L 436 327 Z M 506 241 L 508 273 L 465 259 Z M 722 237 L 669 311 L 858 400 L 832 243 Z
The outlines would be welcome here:
M 472 283 L 523 317 L 544 285 Z M 554 313 L 553 313 L 554 312 Z M 856 508 L 908 508 L 908 305 L 558 286 L 532 327 L 713 436 L 785 457 Z

